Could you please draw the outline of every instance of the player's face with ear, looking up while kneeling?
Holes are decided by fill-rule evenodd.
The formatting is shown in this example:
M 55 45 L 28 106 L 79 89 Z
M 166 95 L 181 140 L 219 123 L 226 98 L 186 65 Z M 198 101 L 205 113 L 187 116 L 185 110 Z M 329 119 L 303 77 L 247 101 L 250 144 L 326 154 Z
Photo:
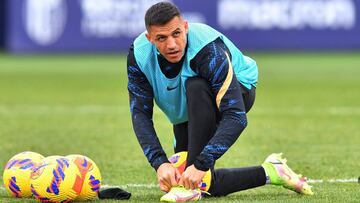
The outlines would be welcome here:
M 165 25 L 152 25 L 146 34 L 147 39 L 155 44 L 162 56 L 171 63 L 179 62 L 186 47 L 188 23 L 175 16 Z

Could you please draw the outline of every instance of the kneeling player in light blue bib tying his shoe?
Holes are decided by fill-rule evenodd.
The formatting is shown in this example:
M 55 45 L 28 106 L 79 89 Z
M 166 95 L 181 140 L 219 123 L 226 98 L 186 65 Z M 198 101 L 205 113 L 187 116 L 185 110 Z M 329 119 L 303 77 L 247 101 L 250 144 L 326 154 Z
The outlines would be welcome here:
M 210 26 L 188 23 L 169 2 L 150 7 L 145 25 L 128 54 L 128 90 L 135 134 L 167 193 L 161 200 L 200 199 L 199 184 L 209 169 L 212 196 L 267 183 L 312 194 L 281 154 L 260 166 L 214 168 L 247 126 L 258 78 L 255 61 Z M 183 174 L 169 163 L 156 135 L 153 100 L 173 124 L 175 152 L 188 152 Z

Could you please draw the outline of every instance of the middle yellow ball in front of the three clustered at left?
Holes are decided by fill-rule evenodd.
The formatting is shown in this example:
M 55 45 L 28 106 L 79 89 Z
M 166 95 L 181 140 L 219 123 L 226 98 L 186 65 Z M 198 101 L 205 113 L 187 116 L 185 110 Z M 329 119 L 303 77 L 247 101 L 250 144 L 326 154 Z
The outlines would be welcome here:
M 45 158 L 31 173 L 31 192 L 41 202 L 68 202 L 79 191 L 79 170 L 69 159 L 61 156 Z

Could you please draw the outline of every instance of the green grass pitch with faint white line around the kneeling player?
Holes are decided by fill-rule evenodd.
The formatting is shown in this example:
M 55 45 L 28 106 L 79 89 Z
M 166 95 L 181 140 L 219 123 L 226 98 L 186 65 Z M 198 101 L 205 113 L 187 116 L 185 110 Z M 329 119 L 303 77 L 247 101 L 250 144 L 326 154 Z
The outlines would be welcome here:
M 360 176 L 360 53 L 254 53 L 260 81 L 249 125 L 218 167 L 261 164 L 284 152 L 311 179 Z M 157 202 L 156 184 L 132 131 L 123 55 L 0 55 L 0 173 L 15 154 L 84 154 L 100 167 L 103 184 L 121 185 L 131 201 Z M 156 109 L 163 147 L 172 128 Z M 2 182 L 2 179 L 1 179 Z M 316 183 L 304 197 L 273 186 L 209 202 L 356 202 L 357 183 Z M 36 202 L 9 198 L 0 202 Z M 111 202 L 111 201 L 103 201 Z M 115 202 L 115 201 L 114 201 Z

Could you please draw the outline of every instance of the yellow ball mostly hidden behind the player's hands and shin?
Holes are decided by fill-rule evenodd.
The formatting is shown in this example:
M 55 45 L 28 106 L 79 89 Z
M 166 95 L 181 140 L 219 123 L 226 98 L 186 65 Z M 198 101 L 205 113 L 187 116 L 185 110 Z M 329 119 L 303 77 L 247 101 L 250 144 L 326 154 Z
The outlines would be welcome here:
M 169 158 L 170 163 L 179 170 L 180 174 L 185 171 L 186 168 L 187 152 L 178 152 Z M 206 172 L 204 178 L 201 181 L 200 189 L 202 191 L 208 191 L 211 185 L 211 171 Z

